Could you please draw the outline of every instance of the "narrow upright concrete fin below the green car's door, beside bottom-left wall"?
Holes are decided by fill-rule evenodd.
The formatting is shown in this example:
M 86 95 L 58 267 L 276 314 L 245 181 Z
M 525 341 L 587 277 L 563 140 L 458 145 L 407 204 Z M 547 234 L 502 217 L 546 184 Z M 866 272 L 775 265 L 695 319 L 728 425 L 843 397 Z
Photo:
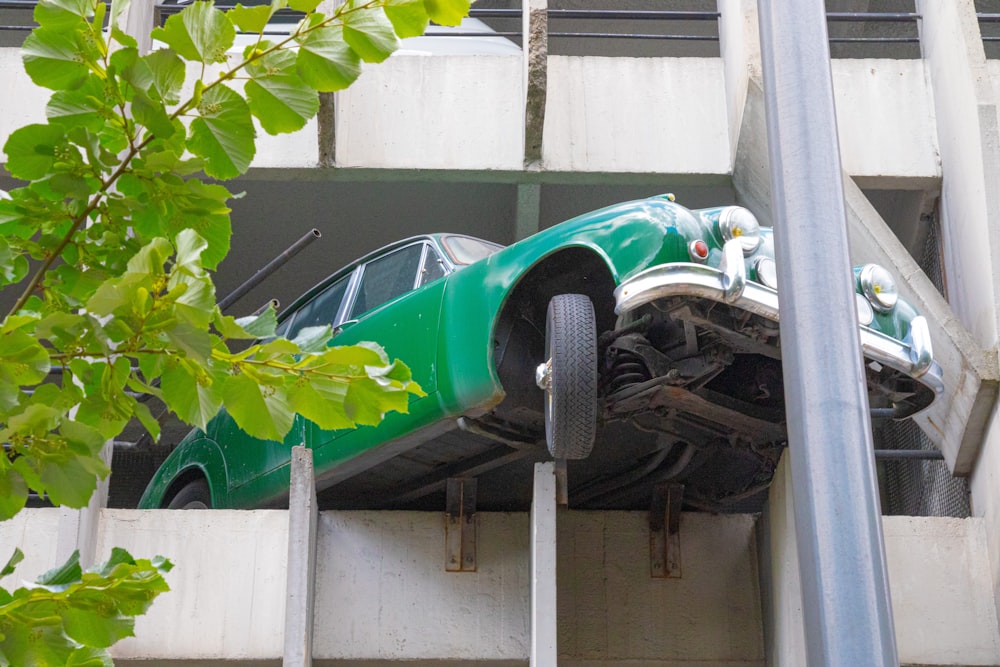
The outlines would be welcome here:
M 319 513 L 312 450 L 292 448 L 288 498 L 288 588 L 285 598 L 284 667 L 312 665 L 316 581 L 316 531 Z

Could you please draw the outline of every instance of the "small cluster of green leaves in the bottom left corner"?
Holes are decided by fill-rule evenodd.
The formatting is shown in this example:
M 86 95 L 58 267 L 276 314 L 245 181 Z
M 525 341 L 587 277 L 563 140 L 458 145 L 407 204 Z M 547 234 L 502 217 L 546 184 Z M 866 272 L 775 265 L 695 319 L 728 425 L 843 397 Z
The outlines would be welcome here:
M 15 550 L 0 577 L 23 558 Z M 86 572 L 80 554 L 13 593 L 0 588 L 0 664 L 105 667 L 105 650 L 131 637 L 135 616 L 169 590 L 164 558 L 135 559 L 124 549 Z

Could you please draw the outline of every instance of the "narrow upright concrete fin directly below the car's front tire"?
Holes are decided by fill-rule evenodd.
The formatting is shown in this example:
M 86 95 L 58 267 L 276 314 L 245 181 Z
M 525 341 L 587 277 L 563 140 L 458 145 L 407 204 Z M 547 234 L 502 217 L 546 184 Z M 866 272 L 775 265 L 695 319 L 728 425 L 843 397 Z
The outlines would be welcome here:
M 531 499 L 531 667 L 556 664 L 556 469 L 535 464 Z

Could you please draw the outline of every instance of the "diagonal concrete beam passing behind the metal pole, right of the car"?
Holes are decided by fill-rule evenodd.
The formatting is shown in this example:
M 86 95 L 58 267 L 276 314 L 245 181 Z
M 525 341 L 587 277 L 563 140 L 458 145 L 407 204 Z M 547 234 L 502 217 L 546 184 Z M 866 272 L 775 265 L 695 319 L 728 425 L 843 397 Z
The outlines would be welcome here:
M 972 470 L 1000 390 L 996 351 L 980 347 L 860 188 L 849 178 L 844 185 L 852 262 L 876 262 L 888 268 L 900 277 L 902 296 L 928 318 L 934 356 L 944 371 L 945 394 L 916 421 L 944 453 L 951 471 L 966 475 Z M 744 205 L 780 229 L 781 221 L 771 213 L 763 90 L 753 77 L 747 89 L 733 186 Z

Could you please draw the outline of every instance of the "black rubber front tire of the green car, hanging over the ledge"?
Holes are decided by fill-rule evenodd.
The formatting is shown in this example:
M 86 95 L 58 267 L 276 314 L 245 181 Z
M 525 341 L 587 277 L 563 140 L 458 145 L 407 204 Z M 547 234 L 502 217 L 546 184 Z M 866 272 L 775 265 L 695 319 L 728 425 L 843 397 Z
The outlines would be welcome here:
M 557 459 L 585 459 L 597 432 L 597 326 L 583 294 L 558 294 L 545 315 L 545 442 Z

